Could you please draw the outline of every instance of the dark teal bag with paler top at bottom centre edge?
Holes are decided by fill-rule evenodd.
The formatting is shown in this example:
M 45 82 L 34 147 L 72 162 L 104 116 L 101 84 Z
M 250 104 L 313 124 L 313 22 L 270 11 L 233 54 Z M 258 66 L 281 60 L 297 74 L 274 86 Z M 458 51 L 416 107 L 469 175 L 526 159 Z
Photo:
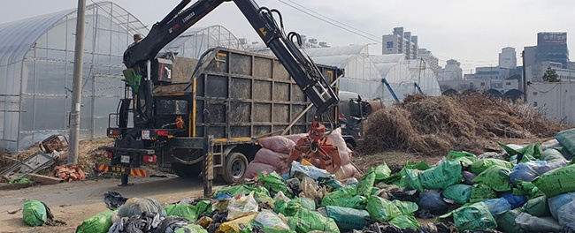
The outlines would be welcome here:
M 353 208 L 327 206 L 326 211 L 340 229 L 363 229 L 370 218 L 367 211 Z

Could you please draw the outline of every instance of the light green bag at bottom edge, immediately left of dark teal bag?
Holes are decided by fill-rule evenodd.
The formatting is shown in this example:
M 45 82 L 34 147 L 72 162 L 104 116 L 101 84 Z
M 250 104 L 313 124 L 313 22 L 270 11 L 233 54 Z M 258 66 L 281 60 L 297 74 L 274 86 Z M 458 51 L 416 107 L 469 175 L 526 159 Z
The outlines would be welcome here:
M 289 219 L 289 227 L 298 233 L 307 233 L 312 230 L 340 232 L 333 219 L 306 208 L 301 208 L 294 217 Z

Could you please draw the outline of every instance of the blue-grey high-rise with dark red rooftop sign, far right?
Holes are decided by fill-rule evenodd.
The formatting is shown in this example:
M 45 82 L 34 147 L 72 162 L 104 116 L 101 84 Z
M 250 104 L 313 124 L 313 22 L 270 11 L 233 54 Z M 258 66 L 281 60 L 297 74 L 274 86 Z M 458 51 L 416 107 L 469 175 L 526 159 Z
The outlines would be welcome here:
M 569 64 L 567 33 L 538 33 L 535 62 L 556 62 L 566 69 Z

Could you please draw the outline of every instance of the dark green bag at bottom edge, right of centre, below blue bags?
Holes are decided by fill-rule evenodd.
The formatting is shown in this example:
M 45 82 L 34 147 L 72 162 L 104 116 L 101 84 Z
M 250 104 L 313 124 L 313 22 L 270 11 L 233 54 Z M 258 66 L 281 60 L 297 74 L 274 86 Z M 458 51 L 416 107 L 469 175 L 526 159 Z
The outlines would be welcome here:
M 471 206 L 459 207 L 453 211 L 453 220 L 457 229 L 495 229 L 497 222 L 489 212 L 485 202 L 478 202 Z

